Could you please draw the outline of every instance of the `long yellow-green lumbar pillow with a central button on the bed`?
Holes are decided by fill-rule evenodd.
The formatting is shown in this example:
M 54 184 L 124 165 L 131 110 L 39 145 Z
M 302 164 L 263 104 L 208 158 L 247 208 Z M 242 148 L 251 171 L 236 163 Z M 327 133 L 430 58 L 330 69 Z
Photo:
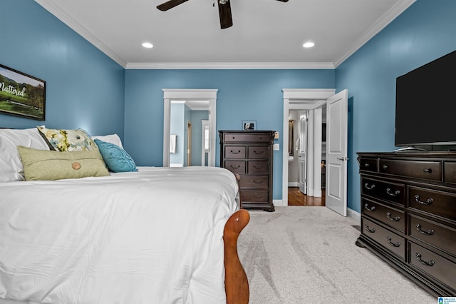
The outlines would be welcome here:
M 43 151 L 18 146 L 26 181 L 55 181 L 63 178 L 108 176 L 98 149 L 90 151 Z

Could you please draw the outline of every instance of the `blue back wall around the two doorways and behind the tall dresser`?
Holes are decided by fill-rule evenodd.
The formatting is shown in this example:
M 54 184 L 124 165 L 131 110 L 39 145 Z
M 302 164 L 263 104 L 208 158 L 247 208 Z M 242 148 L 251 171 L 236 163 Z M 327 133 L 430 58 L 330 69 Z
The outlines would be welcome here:
M 163 163 L 162 88 L 218 88 L 217 130 L 283 128 L 282 88 L 335 88 L 334 70 L 127 70 L 125 148 L 138 166 Z M 282 138 L 276 143 L 282 146 Z M 219 166 L 217 143 L 216 166 Z M 274 152 L 274 199 L 281 199 L 282 151 Z

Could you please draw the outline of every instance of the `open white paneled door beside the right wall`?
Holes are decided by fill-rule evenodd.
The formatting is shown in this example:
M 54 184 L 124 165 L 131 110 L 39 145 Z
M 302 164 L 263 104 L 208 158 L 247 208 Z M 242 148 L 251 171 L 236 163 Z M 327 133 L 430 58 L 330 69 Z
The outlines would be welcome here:
M 347 216 L 348 91 L 326 100 L 326 206 Z

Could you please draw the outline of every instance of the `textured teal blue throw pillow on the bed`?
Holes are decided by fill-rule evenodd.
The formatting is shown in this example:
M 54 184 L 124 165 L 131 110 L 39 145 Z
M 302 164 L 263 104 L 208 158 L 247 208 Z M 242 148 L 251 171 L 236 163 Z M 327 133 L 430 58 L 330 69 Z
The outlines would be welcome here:
M 138 171 L 135 161 L 133 161 L 133 158 L 131 158 L 131 156 L 128 155 L 127 151 L 123 150 L 123 148 L 120 148 L 113 143 L 100 141 L 99 139 L 95 139 L 95 143 L 97 144 L 101 156 L 103 156 L 103 160 L 110 171 Z

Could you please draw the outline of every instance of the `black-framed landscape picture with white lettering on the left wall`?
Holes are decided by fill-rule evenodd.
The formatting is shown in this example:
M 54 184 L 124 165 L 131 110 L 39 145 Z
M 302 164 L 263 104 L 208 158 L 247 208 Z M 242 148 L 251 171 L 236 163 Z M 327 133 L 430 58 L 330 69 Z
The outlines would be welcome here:
M 44 121 L 46 81 L 0 64 L 0 113 Z

